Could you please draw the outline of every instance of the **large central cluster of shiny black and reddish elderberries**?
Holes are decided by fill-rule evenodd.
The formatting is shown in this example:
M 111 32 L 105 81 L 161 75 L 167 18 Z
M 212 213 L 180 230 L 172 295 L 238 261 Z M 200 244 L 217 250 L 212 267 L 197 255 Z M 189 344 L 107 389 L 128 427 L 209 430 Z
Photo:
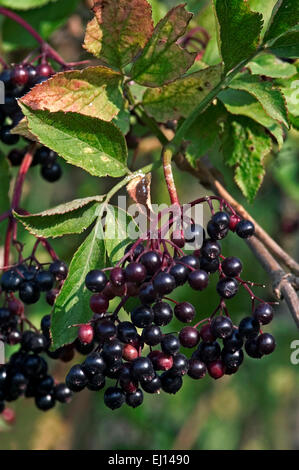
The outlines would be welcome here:
M 92 292 L 93 317 L 79 326 L 76 340 L 82 348 L 85 345 L 87 357 L 70 369 L 67 387 L 73 392 L 84 388 L 99 391 L 105 387 L 107 378 L 113 379 L 116 383 L 104 393 L 105 404 L 116 409 L 126 402 L 135 408 L 142 404 L 144 392 L 163 390 L 175 394 L 185 375 L 201 379 L 208 373 L 218 379 L 237 372 L 243 362 L 244 343 L 251 357 L 270 354 L 275 348 L 274 338 L 260 332 L 260 325 L 268 324 L 273 317 L 269 304 L 260 301 L 239 326 L 234 326 L 229 317 L 226 301 L 237 294 L 240 286 L 254 298 L 248 283 L 239 277 L 241 261 L 221 254 L 219 240 L 229 231 L 248 238 L 254 233 L 254 225 L 236 214 L 219 211 L 213 213 L 207 225 L 208 237 L 195 224 L 179 238 L 172 233 L 168 243 L 173 254 L 165 240 L 148 239 L 146 245 L 143 240 L 137 241 L 127 247 L 117 266 L 90 271 L 85 285 Z M 204 239 L 202 247 L 186 255 L 182 250 L 186 234 L 190 241 L 199 232 Z M 219 305 L 209 318 L 197 322 L 194 305 L 167 297 L 185 283 L 195 291 L 203 291 L 216 272 Z M 115 297 L 121 301 L 111 312 L 109 304 Z M 137 305 L 129 312 L 130 319 L 121 321 L 118 313 L 131 297 Z M 174 302 L 174 308 L 169 301 Z M 189 325 L 177 333 L 165 333 L 163 328 L 174 317 Z M 191 355 L 186 353 L 190 349 Z

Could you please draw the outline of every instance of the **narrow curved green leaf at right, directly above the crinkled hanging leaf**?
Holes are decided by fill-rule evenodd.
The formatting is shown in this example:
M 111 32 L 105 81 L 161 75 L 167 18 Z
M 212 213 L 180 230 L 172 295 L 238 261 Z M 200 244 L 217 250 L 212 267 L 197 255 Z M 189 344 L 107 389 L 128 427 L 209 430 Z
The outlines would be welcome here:
M 241 114 L 247 116 L 262 126 L 266 127 L 275 137 L 281 148 L 284 140 L 284 131 L 282 126 L 272 119 L 264 110 L 261 103 L 246 91 L 227 90 L 219 93 L 218 98 L 225 105 L 226 109 L 232 114 Z

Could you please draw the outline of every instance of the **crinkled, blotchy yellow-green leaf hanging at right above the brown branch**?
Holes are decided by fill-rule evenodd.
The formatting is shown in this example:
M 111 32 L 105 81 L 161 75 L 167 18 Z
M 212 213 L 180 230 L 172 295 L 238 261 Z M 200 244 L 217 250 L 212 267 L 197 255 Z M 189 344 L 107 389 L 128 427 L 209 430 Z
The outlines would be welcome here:
M 232 118 L 228 126 L 223 144 L 225 163 L 235 167 L 235 181 L 252 202 L 264 178 L 264 158 L 271 151 L 271 139 L 247 118 Z

